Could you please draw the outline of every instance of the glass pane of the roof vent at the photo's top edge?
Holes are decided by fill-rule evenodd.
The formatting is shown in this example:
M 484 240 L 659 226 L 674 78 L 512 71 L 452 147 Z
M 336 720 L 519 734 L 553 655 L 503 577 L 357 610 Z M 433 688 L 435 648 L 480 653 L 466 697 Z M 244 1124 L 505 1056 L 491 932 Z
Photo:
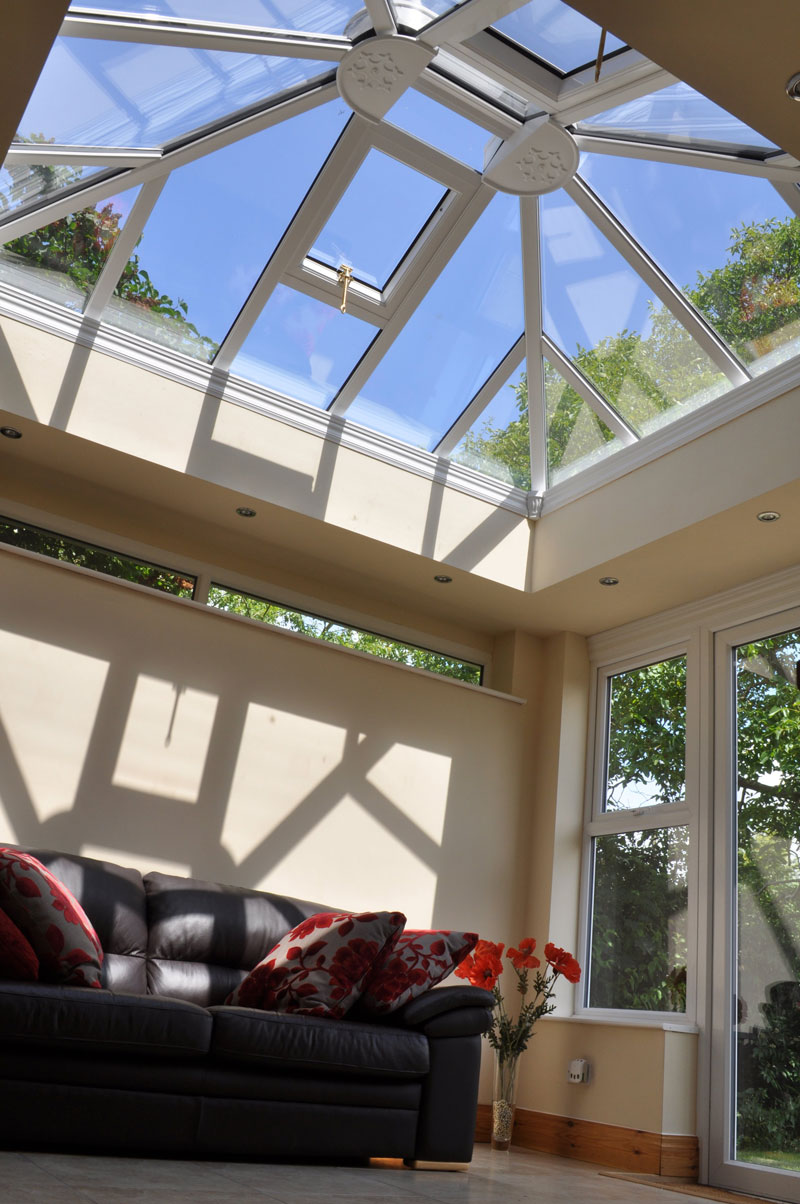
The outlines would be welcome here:
M 594 63 L 600 45 L 600 26 L 561 0 L 531 0 L 516 12 L 495 20 L 492 29 L 513 39 L 525 49 L 551 63 L 561 72 L 577 71 Z M 605 54 L 625 43 L 606 35 Z

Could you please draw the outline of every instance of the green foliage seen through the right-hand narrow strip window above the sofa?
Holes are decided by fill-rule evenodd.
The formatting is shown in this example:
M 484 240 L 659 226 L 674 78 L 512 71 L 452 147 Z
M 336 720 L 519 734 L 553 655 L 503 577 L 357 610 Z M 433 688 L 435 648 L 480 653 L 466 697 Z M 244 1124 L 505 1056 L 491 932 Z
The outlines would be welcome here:
M 220 585 L 212 585 L 208 594 L 208 602 L 220 610 L 241 614 L 247 619 L 258 619 L 259 622 L 270 622 L 276 627 L 286 627 L 289 631 L 298 631 L 304 636 L 323 639 L 329 644 L 354 648 L 360 653 L 369 653 L 370 656 L 380 656 L 382 660 L 396 661 L 400 665 L 411 665 L 414 668 L 428 669 L 429 673 L 457 678 L 459 681 L 471 681 L 473 685 L 481 684 L 480 665 L 471 665 L 469 661 L 459 661 L 453 656 L 431 653 L 425 648 L 404 644 L 400 641 L 389 639 L 388 636 L 377 636 L 371 631 L 361 631 L 359 627 L 348 627 L 345 624 L 335 622 L 333 619 L 320 619 L 317 615 L 305 614 L 301 610 L 290 610 L 288 607 L 278 606 L 276 602 L 269 602 L 265 598 L 257 598 L 247 594 L 239 594 L 235 590 L 224 589 Z

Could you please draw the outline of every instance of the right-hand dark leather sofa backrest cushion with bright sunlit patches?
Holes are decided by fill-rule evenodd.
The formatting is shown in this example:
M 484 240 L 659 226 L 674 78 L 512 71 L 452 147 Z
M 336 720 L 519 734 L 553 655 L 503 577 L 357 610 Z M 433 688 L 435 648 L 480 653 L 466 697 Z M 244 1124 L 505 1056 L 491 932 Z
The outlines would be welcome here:
M 171 874 L 145 875 L 147 988 L 202 1007 L 222 1004 L 320 903 Z

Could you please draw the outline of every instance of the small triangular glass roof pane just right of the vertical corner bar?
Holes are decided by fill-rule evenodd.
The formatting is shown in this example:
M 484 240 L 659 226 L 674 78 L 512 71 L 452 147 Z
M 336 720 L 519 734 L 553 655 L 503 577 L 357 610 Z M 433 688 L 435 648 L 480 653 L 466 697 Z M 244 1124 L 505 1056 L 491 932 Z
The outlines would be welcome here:
M 624 447 L 552 364 L 545 364 L 545 408 L 551 485 L 583 472 Z

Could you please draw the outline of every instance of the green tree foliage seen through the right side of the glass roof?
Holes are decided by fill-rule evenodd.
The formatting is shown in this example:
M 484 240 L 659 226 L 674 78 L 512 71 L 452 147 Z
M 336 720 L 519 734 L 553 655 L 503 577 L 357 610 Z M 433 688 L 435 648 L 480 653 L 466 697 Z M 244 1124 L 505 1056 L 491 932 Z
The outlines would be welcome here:
M 800 336 L 800 218 L 742 225 L 731 231 L 728 261 L 698 273 L 684 289 L 745 362 Z M 663 306 L 651 306 L 647 332 L 623 330 L 596 347 L 578 347 L 577 367 L 635 429 L 647 431 L 675 406 L 700 403 L 725 388 L 724 378 Z M 547 467 L 551 479 L 569 465 L 604 454 L 613 432 L 588 414 L 580 395 L 545 365 Z M 530 488 L 528 379 L 511 385 L 517 415 L 488 421 L 465 436 L 459 460 Z

